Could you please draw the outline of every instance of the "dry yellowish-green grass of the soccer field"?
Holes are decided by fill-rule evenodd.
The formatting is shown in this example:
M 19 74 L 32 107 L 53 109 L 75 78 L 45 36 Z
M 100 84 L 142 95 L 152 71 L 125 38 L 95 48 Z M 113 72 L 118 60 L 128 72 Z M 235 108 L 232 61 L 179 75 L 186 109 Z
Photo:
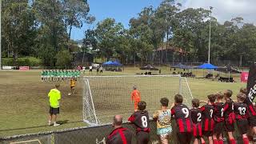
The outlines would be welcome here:
M 136 74 L 139 72 L 141 71 L 138 70 L 138 68 L 126 68 L 124 72 L 104 72 L 103 74 L 127 75 Z M 168 72 L 168 68 L 162 68 L 162 74 L 168 74 Z M 94 75 L 95 73 L 96 72 L 94 71 Z M 202 71 L 200 71 L 200 74 L 201 73 Z M 58 120 L 63 124 L 59 127 L 46 126 L 49 110 L 47 94 L 49 90 L 53 88 L 54 82 L 41 82 L 39 74 L 40 70 L 0 72 L 0 136 L 35 133 L 48 130 L 60 130 L 75 126 L 86 126 L 86 123 L 82 122 L 82 81 L 77 82 L 75 90 L 76 94 L 72 96 L 67 95 L 70 90 L 69 82 L 60 82 L 62 101 L 61 114 L 59 115 Z M 226 89 L 233 90 L 233 98 L 235 98 L 235 94 L 238 93 L 238 89 L 242 86 L 246 86 L 246 84 L 241 82 L 225 83 L 202 78 L 187 78 L 187 80 L 194 98 L 200 99 L 206 99 L 207 94 L 212 94 L 218 90 Z M 129 86 L 127 85 L 127 90 L 130 90 L 132 81 L 125 83 L 126 85 L 127 83 L 129 84 Z M 155 82 L 154 85 L 149 84 L 150 90 L 158 92 L 158 89 L 160 88 L 158 83 L 159 82 Z M 91 85 L 94 84 L 91 83 Z M 116 90 L 119 85 L 112 86 L 114 87 L 109 88 L 110 92 L 112 94 L 117 94 L 116 96 L 118 96 L 120 92 L 117 92 Z M 96 110 L 96 113 L 98 115 L 108 114 L 109 118 L 112 118 L 115 110 L 122 109 L 123 105 L 125 105 L 127 112 L 132 113 L 133 105 L 129 101 L 131 90 L 127 90 L 125 90 L 126 92 L 122 93 L 123 95 L 127 93 L 128 98 L 122 98 L 122 100 L 124 99 L 125 102 L 121 103 L 120 106 L 111 105 L 111 101 L 113 100 L 112 97 L 114 95 L 111 97 L 102 96 L 102 98 L 95 99 L 95 106 L 102 107 L 102 110 Z M 154 106 L 159 106 L 158 99 L 150 98 L 150 96 L 148 96 L 149 94 L 146 95 L 146 101 L 154 101 Z M 159 98 L 160 97 L 161 96 L 159 96 Z M 173 102 L 172 99 L 170 99 L 170 101 Z M 149 106 L 149 108 L 151 109 L 154 106 Z

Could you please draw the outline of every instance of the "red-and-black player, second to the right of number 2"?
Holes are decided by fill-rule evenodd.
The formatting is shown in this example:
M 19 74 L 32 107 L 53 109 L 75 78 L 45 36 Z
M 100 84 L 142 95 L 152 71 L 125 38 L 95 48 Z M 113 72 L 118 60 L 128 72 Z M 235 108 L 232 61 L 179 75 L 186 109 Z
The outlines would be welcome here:
M 223 144 L 222 132 L 224 126 L 224 103 L 222 102 L 224 95 L 221 92 L 216 94 L 217 102 L 214 103 L 214 144 Z

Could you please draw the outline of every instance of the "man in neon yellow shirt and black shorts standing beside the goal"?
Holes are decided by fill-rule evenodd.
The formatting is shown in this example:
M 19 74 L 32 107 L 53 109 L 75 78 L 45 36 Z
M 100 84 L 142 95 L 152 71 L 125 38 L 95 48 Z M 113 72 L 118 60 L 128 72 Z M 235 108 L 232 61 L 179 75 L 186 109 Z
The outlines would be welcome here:
M 49 110 L 50 116 L 48 121 L 49 126 L 51 126 L 51 122 L 54 122 L 54 126 L 60 125 L 56 122 L 57 114 L 59 114 L 59 101 L 62 98 L 62 94 L 58 90 L 59 86 L 60 86 L 59 84 L 55 84 L 55 88 L 51 89 L 48 94 L 48 98 L 50 102 L 50 110 Z

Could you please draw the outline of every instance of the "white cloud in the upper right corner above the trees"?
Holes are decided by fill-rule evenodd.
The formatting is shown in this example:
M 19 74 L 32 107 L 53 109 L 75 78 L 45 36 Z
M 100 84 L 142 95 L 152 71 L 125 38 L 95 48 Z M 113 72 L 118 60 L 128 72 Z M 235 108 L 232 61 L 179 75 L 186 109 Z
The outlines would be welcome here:
M 231 18 L 242 17 L 244 22 L 256 24 L 256 0 L 180 0 L 184 8 L 214 7 L 213 15 L 223 23 Z

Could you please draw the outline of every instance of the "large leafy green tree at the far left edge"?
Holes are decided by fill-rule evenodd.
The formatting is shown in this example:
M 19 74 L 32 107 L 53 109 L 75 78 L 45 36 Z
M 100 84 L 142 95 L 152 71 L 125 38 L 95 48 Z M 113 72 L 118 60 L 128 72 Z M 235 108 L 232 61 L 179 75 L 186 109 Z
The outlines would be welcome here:
M 7 53 L 12 52 L 14 66 L 18 54 L 33 53 L 34 46 L 34 14 L 27 0 L 5 0 L 2 2 L 2 43 Z

